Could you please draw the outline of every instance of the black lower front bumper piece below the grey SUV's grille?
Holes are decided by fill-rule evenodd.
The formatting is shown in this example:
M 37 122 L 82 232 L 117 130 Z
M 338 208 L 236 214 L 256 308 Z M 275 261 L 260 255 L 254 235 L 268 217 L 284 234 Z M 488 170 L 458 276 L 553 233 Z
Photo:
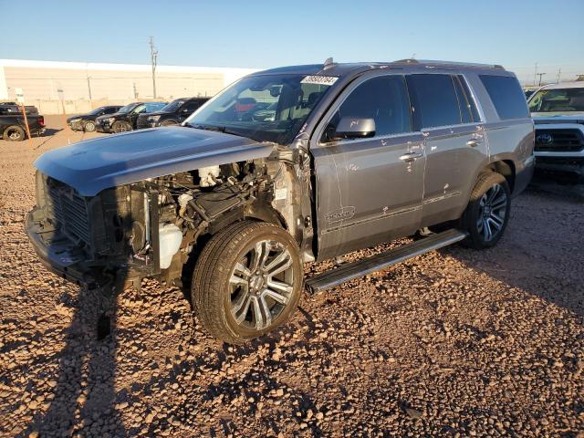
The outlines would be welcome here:
M 35 207 L 26 215 L 25 229 L 41 263 L 57 276 L 88 288 L 104 287 L 112 281 L 100 266 L 84 263 L 82 250 L 68 237 L 56 229 L 44 227 L 40 208 Z

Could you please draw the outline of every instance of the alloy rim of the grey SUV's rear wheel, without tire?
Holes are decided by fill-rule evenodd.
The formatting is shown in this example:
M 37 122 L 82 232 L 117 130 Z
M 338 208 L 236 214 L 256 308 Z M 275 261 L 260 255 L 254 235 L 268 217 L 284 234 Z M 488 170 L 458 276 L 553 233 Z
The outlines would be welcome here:
M 476 227 L 485 242 L 493 240 L 503 229 L 507 203 L 506 191 L 499 184 L 493 185 L 481 197 Z

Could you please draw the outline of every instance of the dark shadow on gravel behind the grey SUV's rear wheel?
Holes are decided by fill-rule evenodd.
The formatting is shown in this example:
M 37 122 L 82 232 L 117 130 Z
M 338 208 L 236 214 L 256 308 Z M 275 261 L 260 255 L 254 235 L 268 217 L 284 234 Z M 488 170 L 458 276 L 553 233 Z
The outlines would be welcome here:
M 506 233 L 494 248 L 455 245 L 441 252 L 584 318 L 582 201 L 533 188 L 514 201 Z M 574 204 L 582 205 L 582 213 L 574 214 Z

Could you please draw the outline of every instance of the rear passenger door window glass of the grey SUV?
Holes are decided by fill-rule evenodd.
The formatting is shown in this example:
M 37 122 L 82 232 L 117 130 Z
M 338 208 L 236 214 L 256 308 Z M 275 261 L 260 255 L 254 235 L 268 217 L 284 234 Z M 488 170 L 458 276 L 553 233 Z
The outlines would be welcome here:
M 450 75 L 409 75 L 407 80 L 416 130 L 461 123 Z

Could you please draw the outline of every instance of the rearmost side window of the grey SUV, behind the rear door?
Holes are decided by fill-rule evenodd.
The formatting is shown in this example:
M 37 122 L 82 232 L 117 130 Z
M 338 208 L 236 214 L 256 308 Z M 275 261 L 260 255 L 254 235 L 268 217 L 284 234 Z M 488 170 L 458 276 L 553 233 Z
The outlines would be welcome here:
M 501 119 L 523 119 L 529 117 L 525 94 L 519 81 L 508 76 L 479 75 L 486 92 L 489 93 L 496 113 Z

